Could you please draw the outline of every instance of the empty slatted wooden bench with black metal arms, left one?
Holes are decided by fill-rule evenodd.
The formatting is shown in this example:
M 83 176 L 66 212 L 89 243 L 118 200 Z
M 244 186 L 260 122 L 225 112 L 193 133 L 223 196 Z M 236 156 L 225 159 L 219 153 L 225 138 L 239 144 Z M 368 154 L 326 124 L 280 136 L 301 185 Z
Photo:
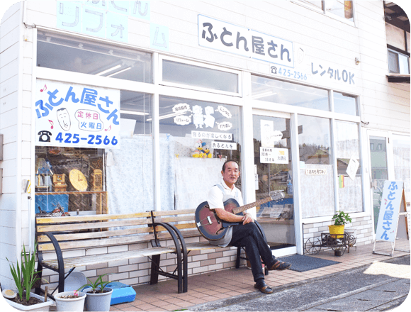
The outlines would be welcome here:
M 157 235 L 154 227 L 161 227 L 162 231 L 167 232 L 167 240 L 171 239 L 174 245 L 162 246 L 161 235 Z M 62 292 L 64 291 L 64 279 L 75 267 L 149 257 L 152 260 L 152 284 L 157 282 L 159 274 L 171 277 L 178 280 L 178 292 L 181 293 L 184 291 L 183 286 L 187 284 L 184 282 L 186 273 L 183 272 L 183 264 L 186 265 L 187 262 L 186 252 L 184 253 L 184 247 L 181 246 L 184 240 L 179 237 L 175 228 L 171 229 L 167 224 L 156 221 L 154 227 L 150 212 L 54 218 L 36 216 L 38 271 L 43 271 L 45 267 L 58 272 L 58 289 Z M 141 243 L 144 246 L 141 249 L 141 246 L 136 246 L 135 250 L 128 247 L 127 251 L 108 252 L 103 255 L 93 255 L 93 252 L 89 252 L 91 248 Z M 50 253 L 57 255 L 57 259 Z M 175 253 L 177 257 L 176 269 L 173 273 L 164 272 L 160 267 L 160 255 L 170 253 Z M 47 260 L 50 258 L 53 260 Z M 64 276 L 64 269 L 69 269 L 67 276 Z M 39 286 L 35 292 L 40 294 L 40 291 L 42 290 Z

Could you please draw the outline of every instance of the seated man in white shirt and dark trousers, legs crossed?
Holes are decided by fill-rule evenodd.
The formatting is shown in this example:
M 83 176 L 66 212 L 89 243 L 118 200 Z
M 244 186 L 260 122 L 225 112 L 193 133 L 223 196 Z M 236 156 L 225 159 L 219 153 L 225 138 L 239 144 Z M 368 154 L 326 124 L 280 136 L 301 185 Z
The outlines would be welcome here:
M 219 240 L 210 240 L 210 244 L 221 247 L 226 247 L 228 245 L 245 247 L 247 257 L 251 263 L 254 282 L 256 282 L 254 287 L 264 294 L 271 294 L 273 289 L 267 286 L 264 281 L 261 259 L 269 270 L 288 269 L 291 267 L 291 264 L 276 260 L 269 245 L 267 245 L 264 240 L 264 236 L 261 235 L 259 228 L 257 228 L 254 219 L 249 213 L 244 213 L 244 216 L 240 216 L 225 211 L 223 203 L 227 201 L 227 199 L 235 199 L 240 206 L 244 205 L 241 191 L 234 185 L 240 177 L 240 169 L 237 162 L 227 160 L 223 165 L 221 174 L 223 175 L 223 179 L 221 179 L 220 184 L 213 186 L 208 193 L 208 206 L 210 206 L 210 210 L 215 210 L 218 218 L 223 221 L 242 224 L 230 226 L 223 238 L 220 238 Z

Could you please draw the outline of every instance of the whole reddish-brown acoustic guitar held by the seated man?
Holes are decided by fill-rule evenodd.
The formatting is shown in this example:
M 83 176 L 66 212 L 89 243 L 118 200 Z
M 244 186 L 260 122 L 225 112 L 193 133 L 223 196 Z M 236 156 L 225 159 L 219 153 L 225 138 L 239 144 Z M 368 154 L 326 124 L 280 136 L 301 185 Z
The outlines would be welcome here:
M 283 191 L 274 191 L 273 195 L 266 197 L 265 199 L 241 207 L 235 199 L 227 199 L 227 201 L 224 202 L 224 209 L 230 213 L 242 216 L 242 211 L 246 211 L 257 205 L 268 203 L 269 201 L 278 201 L 284 197 Z M 203 203 L 198 205 L 196 209 L 197 228 L 201 235 L 208 240 L 219 240 L 220 238 L 223 238 L 230 226 L 239 224 L 242 224 L 242 222 L 227 222 L 218 218 L 217 213 L 215 213 L 214 210 L 210 210 L 207 201 L 203 201 Z

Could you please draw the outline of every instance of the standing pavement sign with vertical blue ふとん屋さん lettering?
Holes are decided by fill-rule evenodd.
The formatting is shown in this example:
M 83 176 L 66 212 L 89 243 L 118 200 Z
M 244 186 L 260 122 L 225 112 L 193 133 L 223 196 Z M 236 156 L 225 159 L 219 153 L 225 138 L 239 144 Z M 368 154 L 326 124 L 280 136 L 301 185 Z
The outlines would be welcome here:
M 402 199 L 402 181 L 385 181 L 376 230 L 376 240 L 393 243 Z

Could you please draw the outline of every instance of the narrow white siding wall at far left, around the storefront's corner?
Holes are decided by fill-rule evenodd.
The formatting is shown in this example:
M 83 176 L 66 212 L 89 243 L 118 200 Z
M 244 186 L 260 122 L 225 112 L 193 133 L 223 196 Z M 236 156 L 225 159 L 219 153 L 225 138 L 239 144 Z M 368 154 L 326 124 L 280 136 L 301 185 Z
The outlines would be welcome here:
M 11 274 L 6 257 L 16 262 L 16 246 L 21 233 L 16 217 L 21 210 L 18 200 L 18 177 L 21 168 L 18 150 L 19 55 L 21 36 L 21 3 L 13 4 L 1 17 L 0 26 L 0 133 L 4 134 L 3 194 L 0 194 L 0 277 L 1 286 L 10 286 Z M 20 145 L 20 146 L 19 146 Z M 20 229 L 21 227 L 18 227 Z

